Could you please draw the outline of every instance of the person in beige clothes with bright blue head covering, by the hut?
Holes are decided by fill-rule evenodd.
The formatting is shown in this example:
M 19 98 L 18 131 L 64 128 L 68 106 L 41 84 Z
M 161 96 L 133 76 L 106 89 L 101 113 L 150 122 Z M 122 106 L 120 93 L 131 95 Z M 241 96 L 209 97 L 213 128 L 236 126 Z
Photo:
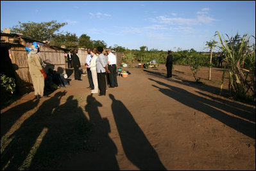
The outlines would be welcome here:
M 35 90 L 35 97 L 40 99 L 44 96 L 44 79 L 47 75 L 42 68 L 42 61 L 40 60 L 39 55 L 39 45 L 37 42 L 33 42 L 31 48 L 25 47 L 28 51 L 28 69 L 33 83 L 33 88 Z

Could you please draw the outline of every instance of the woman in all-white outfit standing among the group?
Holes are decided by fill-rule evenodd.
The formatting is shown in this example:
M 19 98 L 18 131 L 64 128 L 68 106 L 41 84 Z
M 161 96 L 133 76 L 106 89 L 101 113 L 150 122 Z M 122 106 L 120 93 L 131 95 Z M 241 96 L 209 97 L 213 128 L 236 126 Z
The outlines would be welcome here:
M 94 48 L 92 51 L 90 51 L 90 54 L 92 55 L 92 59 L 90 60 L 90 71 L 92 72 L 92 81 L 94 83 L 94 89 L 92 90 L 92 94 L 98 94 L 98 77 L 97 77 L 97 70 L 96 70 L 96 60 L 98 56 L 96 55 L 97 49 Z

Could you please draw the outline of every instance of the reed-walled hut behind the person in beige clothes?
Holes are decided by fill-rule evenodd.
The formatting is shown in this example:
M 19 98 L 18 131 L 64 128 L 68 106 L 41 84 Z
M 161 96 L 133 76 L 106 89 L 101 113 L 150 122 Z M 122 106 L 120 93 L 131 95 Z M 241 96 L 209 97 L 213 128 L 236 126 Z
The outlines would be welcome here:
M 21 94 L 33 90 L 28 70 L 28 53 L 25 50 L 25 47 L 30 47 L 33 42 L 37 42 L 40 45 L 38 55 L 46 63 L 46 67 L 44 67 L 46 73 L 49 68 L 59 72 L 65 70 L 64 53 L 68 49 L 33 40 L 17 33 L 1 33 L 1 74 L 14 77 Z

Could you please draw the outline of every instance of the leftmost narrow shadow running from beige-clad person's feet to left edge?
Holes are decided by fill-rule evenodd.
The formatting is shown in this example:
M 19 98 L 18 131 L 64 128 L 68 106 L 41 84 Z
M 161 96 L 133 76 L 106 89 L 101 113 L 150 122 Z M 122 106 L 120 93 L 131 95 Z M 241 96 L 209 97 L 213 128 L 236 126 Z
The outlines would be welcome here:
M 23 102 L 7 111 L 1 113 L 1 138 L 3 136 L 8 136 L 6 134 L 10 128 L 15 124 L 15 122 L 24 115 L 27 111 L 33 110 L 38 104 L 39 100 L 30 100 Z

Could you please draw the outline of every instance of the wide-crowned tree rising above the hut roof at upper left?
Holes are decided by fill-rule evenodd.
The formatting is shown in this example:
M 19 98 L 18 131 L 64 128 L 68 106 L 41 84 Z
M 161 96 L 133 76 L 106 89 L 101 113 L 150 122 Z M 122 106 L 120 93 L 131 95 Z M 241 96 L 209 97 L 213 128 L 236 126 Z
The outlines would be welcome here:
M 31 37 L 39 41 L 51 41 L 55 32 L 65 26 L 67 22 L 57 22 L 52 20 L 50 22 L 19 22 L 19 25 L 12 27 L 12 33 L 22 33 L 27 37 Z

